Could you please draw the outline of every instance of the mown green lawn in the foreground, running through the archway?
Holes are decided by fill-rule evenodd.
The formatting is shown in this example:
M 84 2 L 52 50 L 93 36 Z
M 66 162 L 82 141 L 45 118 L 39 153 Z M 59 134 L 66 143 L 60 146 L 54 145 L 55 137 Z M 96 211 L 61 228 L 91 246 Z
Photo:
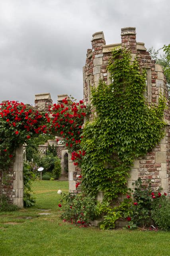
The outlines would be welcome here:
M 66 181 L 33 182 L 36 206 L 17 212 L 0 213 L 1 256 L 168 256 L 170 233 L 79 228 L 63 222 L 57 190 L 68 191 Z M 50 215 L 38 215 L 51 209 Z M 22 218 L 24 217 L 24 218 Z M 25 217 L 33 217 L 25 219 Z M 12 225 L 6 222 L 18 222 Z

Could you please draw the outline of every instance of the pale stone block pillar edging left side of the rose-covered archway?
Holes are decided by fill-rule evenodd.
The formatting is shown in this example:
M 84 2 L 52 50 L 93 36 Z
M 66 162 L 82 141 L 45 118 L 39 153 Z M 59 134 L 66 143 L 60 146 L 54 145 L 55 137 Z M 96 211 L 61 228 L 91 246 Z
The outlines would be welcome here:
M 15 190 L 14 204 L 18 207 L 23 207 L 23 146 L 20 145 L 16 149 L 15 162 L 13 170 L 16 179 L 13 182 L 13 189 Z

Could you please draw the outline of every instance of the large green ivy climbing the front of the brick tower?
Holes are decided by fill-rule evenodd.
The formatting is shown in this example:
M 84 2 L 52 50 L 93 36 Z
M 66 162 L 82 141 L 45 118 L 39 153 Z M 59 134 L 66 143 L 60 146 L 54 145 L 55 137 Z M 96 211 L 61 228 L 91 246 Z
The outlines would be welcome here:
M 145 156 L 164 136 L 164 96 L 158 106 L 146 104 L 146 71 L 137 59 L 130 60 L 126 50 L 113 50 L 107 67 L 113 82 L 107 86 L 100 80 L 91 88 L 96 117 L 83 130 L 82 188 L 93 195 L 104 192 L 106 202 L 127 192 L 134 159 Z

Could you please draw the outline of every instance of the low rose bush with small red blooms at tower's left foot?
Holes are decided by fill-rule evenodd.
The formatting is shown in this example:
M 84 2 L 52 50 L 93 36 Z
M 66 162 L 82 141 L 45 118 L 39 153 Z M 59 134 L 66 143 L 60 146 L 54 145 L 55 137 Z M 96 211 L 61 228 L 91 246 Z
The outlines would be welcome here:
M 62 194 L 59 207 L 64 211 L 61 217 L 75 224 L 86 226 L 94 218 L 95 198 L 79 194 Z

